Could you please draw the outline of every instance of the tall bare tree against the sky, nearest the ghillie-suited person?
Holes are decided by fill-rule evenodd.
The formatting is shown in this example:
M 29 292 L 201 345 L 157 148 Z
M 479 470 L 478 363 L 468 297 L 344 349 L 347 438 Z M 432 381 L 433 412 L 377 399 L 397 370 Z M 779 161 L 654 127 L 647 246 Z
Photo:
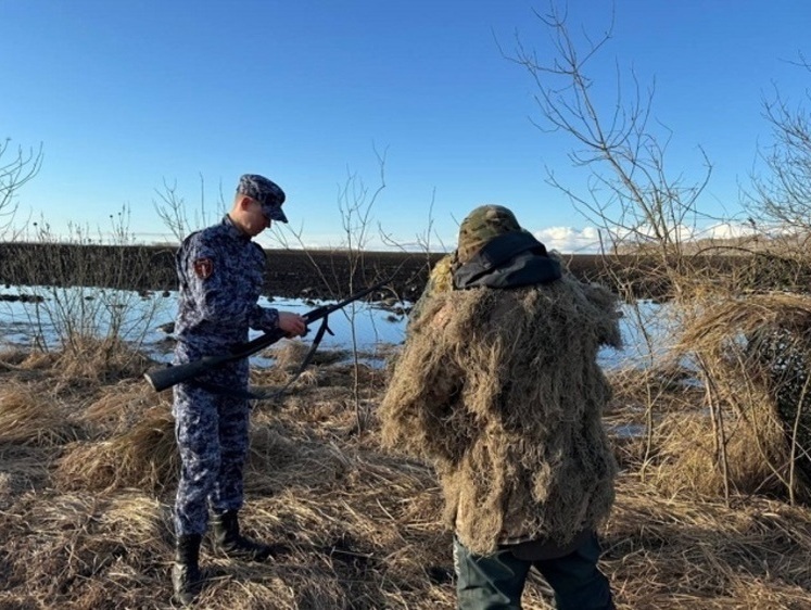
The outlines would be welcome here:
M 702 217 L 697 200 L 705 189 L 711 165 L 699 148 L 702 175 L 688 181 L 681 171 L 670 173 L 666 153 L 671 132 L 659 125 L 654 130 L 651 106 L 655 88 L 643 91 L 633 71 L 631 88 L 623 89 L 619 66 L 613 76 L 613 100 L 600 103 L 596 80 L 588 75 L 597 54 L 609 43 L 613 20 L 607 31 L 594 40 L 583 35 L 576 42 L 566 13 L 554 3 L 548 13 L 535 12 L 548 34 L 552 53 L 541 58 L 516 36 L 514 52 L 502 53 L 522 66 L 535 84 L 535 101 L 542 120 L 533 122 L 545 131 L 562 132 L 575 147 L 569 161 L 588 171 L 581 192 L 562 183 L 547 168 L 547 182 L 568 195 L 583 216 L 603 229 L 609 253 L 643 252 L 654 256 L 655 269 L 673 291 L 684 277 L 684 242 L 698 231 Z M 581 48 L 583 51 L 581 51 Z M 658 125 L 658 124 L 657 124 Z

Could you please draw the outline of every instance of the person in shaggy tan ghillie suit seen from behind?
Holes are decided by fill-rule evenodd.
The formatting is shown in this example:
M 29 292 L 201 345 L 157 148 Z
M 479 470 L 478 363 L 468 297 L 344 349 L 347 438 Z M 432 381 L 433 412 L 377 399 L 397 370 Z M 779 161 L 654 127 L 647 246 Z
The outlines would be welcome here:
M 382 441 L 433 463 L 461 609 L 520 608 L 531 568 L 559 610 L 614 608 L 596 536 L 617 473 L 601 345 L 617 300 L 582 283 L 506 207 L 461 223 L 413 312 Z

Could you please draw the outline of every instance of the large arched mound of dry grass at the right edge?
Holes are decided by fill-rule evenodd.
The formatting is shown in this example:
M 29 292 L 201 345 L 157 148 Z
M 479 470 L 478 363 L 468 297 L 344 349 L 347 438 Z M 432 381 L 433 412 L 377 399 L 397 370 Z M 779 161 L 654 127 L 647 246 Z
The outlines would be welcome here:
M 806 357 L 804 336 L 810 331 L 811 298 L 802 295 L 752 294 L 697 308 L 685 326 L 677 352 L 693 354 L 699 364 L 714 417 L 696 419 L 695 448 L 689 443 L 680 448 L 681 433 L 671 439 L 669 450 L 685 454 L 675 463 L 694 476 L 679 468 L 670 469 L 670 474 L 662 471 L 663 484 L 664 476 L 673 478 L 666 487 L 681 487 L 690 480 L 697 490 L 710 492 L 718 488 L 721 476 L 742 493 L 773 491 L 778 482 L 790 497 L 811 498 L 811 402 L 793 394 L 796 402 L 789 407 L 791 412 L 786 412 L 780 396 L 785 383 L 793 381 L 778 379 L 777 358 L 783 356 L 770 353 L 763 347 L 768 343 L 761 343 L 763 338 L 782 332 L 800 338 L 799 343 L 786 344 L 785 353 L 799 354 L 797 361 L 803 366 L 794 369 L 807 380 L 804 364 L 811 360 Z M 695 468 L 689 468 L 693 460 Z M 715 472 L 702 473 L 702 467 Z

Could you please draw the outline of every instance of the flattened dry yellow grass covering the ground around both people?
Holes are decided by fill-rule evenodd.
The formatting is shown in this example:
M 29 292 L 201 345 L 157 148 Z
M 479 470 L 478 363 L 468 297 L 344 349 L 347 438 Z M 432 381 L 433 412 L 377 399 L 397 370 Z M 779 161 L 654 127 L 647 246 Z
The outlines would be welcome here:
M 36 376 L 0 370 L 2 417 L 26 414 L 0 425 L 0 609 L 170 608 L 176 465 L 167 396 L 137 379 L 64 385 L 59 371 L 38 367 Z M 433 473 L 379 449 L 380 371 L 364 370 L 368 428 L 357 432 L 351 373 L 319 367 L 314 382 L 254 409 L 244 529 L 279 552 L 240 564 L 206 546 L 199 608 L 454 607 L 451 535 Z M 271 374 L 284 381 L 279 372 L 255 377 Z M 648 392 L 624 383 L 610 417 L 642 422 Z M 679 383 L 662 381 L 658 392 L 668 417 L 697 398 Z M 668 435 L 680 431 L 686 442 L 700 430 L 662 423 L 655 439 L 662 473 L 683 468 L 671 459 L 679 452 L 666 449 Z M 733 493 L 730 505 L 712 493 L 696 499 L 650 474 L 643 483 L 639 441 L 617 441 L 624 470 L 603 532 L 603 568 L 621 610 L 811 607 L 804 508 L 759 494 Z M 524 608 L 550 608 L 545 590 L 533 579 Z

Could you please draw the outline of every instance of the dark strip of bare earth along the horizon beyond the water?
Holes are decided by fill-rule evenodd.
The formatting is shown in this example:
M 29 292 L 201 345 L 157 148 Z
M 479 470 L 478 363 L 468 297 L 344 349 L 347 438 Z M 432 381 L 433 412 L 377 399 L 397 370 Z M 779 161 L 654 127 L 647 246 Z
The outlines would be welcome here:
M 98 285 L 123 290 L 164 291 L 177 288 L 174 246 L 104 246 L 0 243 L 0 282 L 12 285 Z M 267 250 L 265 294 L 288 298 L 337 298 L 383 279 L 394 294 L 413 301 L 422 292 L 441 253 Z M 671 292 L 661 260 L 652 256 L 594 254 L 563 256 L 579 279 L 598 282 L 636 297 L 662 298 Z M 692 256 L 682 260 L 689 274 L 735 278 L 753 290 L 804 291 L 811 268 L 789 258 Z M 677 268 L 671 265 L 672 269 Z

